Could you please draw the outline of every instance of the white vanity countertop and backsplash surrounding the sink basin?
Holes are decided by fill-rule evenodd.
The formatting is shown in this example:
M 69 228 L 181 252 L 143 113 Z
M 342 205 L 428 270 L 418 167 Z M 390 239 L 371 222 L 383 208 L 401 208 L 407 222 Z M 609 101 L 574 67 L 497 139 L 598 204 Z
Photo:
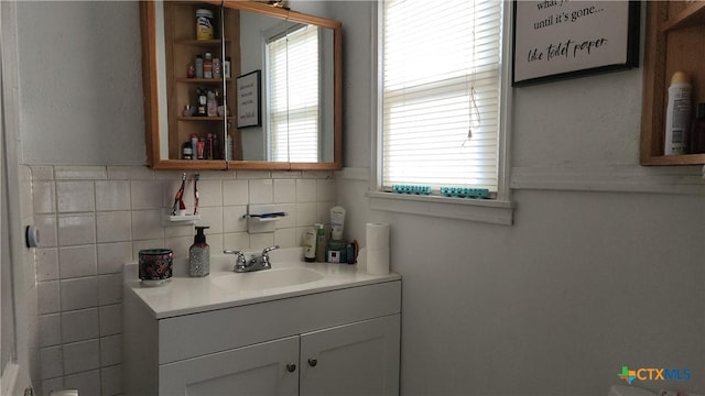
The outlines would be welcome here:
M 323 277 L 299 285 L 254 290 L 227 290 L 212 280 L 230 276 L 235 255 L 212 254 L 210 275 L 203 278 L 185 276 L 185 261 L 174 260 L 174 277 L 161 286 L 144 286 L 138 277 L 138 264 L 127 263 L 124 267 L 124 293 L 133 293 L 154 314 L 155 319 L 188 315 L 215 309 L 230 308 L 281 298 L 328 292 L 334 289 L 399 280 L 395 273 L 370 275 L 358 271 L 357 265 L 337 263 L 305 263 L 302 249 L 280 249 L 270 253 L 272 270 L 305 267 Z M 181 271 L 183 266 L 183 271 Z M 235 274 L 232 276 L 247 275 Z

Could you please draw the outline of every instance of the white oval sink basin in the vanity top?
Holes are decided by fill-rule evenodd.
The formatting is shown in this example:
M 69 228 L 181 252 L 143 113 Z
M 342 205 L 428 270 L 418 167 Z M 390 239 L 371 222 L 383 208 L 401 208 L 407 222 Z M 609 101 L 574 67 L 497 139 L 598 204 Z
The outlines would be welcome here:
M 228 293 L 265 290 L 276 287 L 295 286 L 323 279 L 323 275 L 308 268 L 273 268 L 243 274 L 226 274 L 210 279 L 213 284 Z

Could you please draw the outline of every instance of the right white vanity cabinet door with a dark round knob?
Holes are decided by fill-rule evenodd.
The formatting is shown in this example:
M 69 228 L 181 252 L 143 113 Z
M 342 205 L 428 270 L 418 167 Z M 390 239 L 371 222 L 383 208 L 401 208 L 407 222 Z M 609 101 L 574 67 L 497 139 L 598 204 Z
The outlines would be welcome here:
M 301 336 L 301 395 L 399 395 L 400 316 Z

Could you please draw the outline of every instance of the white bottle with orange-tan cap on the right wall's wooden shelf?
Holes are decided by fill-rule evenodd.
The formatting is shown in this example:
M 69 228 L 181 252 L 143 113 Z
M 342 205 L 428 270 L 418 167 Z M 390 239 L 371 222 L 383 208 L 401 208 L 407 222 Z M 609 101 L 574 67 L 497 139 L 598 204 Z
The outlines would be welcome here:
M 683 72 L 675 72 L 669 87 L 663 155 L 682 155 L 687 152 L 692 90 L 688 76 Z

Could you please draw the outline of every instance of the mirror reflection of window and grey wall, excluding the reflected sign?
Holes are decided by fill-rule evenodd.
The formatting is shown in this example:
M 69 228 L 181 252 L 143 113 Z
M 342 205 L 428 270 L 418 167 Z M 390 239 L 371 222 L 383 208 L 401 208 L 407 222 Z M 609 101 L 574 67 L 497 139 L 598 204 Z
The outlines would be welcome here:
M 240 29 L 242 74 L 262 70 L 264 118 L 242 129 L 242 158 L 333 162 L 333 29 L 250 12 L 241 12 Z

